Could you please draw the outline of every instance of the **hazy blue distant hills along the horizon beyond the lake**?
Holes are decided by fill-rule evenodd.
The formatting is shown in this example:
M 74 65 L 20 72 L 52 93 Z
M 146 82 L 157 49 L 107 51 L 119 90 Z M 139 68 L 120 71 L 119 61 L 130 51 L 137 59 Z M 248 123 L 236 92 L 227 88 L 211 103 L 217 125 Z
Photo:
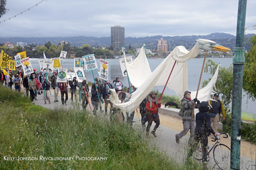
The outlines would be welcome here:
M 246 34 L 246 39 L 253 36 L 254 34 Z M 147 37 L 141 37 L 141 38 L 132 38 L 127 37 L 125 38 L 125 47 L 128 47 L 131 45 L 133 48 L 140 48 L 143 43 L 145 43 L 146 48 L 149 48 L 151 50 L 155 50 L 157 48 L 157 40 L 160 38 L 164 38 L 164 40 L 168 43 L 169 50 L 172 50 L 175 46 L 183 45 L 188 50 L 191 49 L 195 43 L 196 39 L 198 38 L 204 38 L 204 39 L 211 39 L 212 41 L 216 41 L 216 43 L 220 43 L 220 45 L 227 46 L 228 48 L 231 48 L 234 50 L 234 47 L 236 46 L 236 36 L 233 36 L 231 34 L 221 33 L 221 32 L 215 32 L 209 35 L 192 35 L 192 36 L 147 36 Z M 6 41 L 9 41 L 11 43 L 17 43 L 17 42 L 25 42 L 34 45 L 45 45 L 48 41 L 51 41 L 51 43 L 54 43 L 58 45 L 60 41 L 68 41 L 70 45 L 72 46 L 82 46 L 84 44 L 88 44 L 93 47 L 103 47 L 103 46 L 110 46 L 110 37 L 93 37 L 93 36 L 76 36 L 76 37 L 45 37 L 45 38 L 0 38 L 0 43 L 4 43 Z M 248 50 L 248 46 L 246 46 L 246 50 Z

